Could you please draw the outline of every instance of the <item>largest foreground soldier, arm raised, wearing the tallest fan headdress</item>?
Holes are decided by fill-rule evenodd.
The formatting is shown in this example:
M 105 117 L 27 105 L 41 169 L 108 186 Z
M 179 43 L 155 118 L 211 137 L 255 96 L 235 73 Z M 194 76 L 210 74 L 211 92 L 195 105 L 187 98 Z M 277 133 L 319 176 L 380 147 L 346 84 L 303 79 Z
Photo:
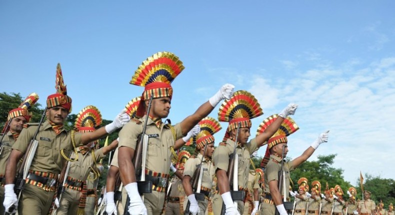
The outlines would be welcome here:
M 207 102 L 203 103 L 192 115 L 174 126 L 164 124 L 161 119 L 167 117 L 172 96 L 171 81 L 184 66 L 170 52 L 158 52 L 148 57 L 136 70 L 130 83 L 145 86 L 141 102 L 137 108 L 136 118 L 119 132 L 118 164 L 119 173 L 130 198 L 128 212 L 130 214 L 159 214 L 162 212 L 165 199 L 165 186 L 168 183 L 170 155 L 182 145 L 175 145 L 178 138 L 185 135 L 203 117 L 207 116 L 216 104 L 233 93 L 234 86 L 223 85 Z M 150 104 L 151 100 L 151 104 Z M 150 106 L 151 105 L 151 106 Z M 151 107 L 151 108 L 150 108 Z M 147 110 L 149 109 L 149 112 Z M 143 127 L 146 124 L 146 127 Z M 138 143 L 138 137 L 145 130 L 149 136 L 147 145 L 145 179 L 152 181 L 152 192 L 144 194 L 141 199 L 136 183 L 135 169 L 132 163 Z

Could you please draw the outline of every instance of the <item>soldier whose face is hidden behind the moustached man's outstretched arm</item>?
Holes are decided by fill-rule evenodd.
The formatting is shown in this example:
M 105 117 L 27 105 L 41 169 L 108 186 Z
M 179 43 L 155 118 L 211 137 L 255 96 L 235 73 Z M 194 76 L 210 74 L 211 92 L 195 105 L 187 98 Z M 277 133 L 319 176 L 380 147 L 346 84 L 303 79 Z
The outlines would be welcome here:
M 78 113 L 74 127 L 81 133 L 93 132 L 101 124 L 101 121 L 100 111 L 95 106 L 88 105 Z M 69 171 L 65 175 L 64 192 L 58 196 L 60 203 L 59 208 L 56 210 L 57 215 L 83 214 L 88 195 L 85 181 L 86 179 L 95 180 L 99 177 L 97 162 L 105 154 L 115 149 L 118 141 L 114 140 L 110 145 L 97 150 L 92 149 L 96 145 L 98 145 L 97 140 L 91 141 L 86 145 L 77 145 L 77 153 L 71 154 L 70 158 L 68 158 Z M 88 178 L 90 171 L 93 172 L 93 178 Z M 89 195 L 92 194 L 94 196 L 94 190 L 93 193 L 89 193 Z

